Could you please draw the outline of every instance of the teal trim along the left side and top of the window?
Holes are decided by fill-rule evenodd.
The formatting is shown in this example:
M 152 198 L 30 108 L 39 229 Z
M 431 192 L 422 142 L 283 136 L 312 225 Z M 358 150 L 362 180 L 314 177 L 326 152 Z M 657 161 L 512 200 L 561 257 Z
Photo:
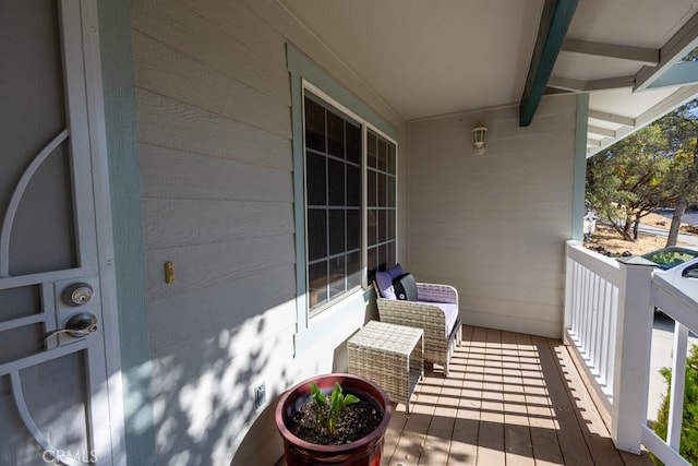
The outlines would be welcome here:
M 303 164 L 303 83 L 308 82 L 317 89 L 332 97 L 337 104 L 346 107 L 366 123 L 394 141 L 399 141 L 399 131 L 386 119 L 369 107 L 363 100 L 352 94 L 347 87 L 320 68 L 308 56 L 291 44 L 286 46 L 287 67 L 290 73 L 291 89 L 291 131 L 293 152 L 293 198 L 294 198 L 294 224 L 296 224 L 296 309 L 297 309 L 297 335 L 296 354 L 302 348 L 310 347 L 309 342 L 321 338 L 320 332 L 324 326 L 317 325 L 318 334 L 309 332 L 310 318 L 308 310 L 306 271 L 308 263 L 305 251 L 305 180 Z M 361 298 L 363 302 L 363 298 Z M 338 308 L 340 314 L 345 312 L 347 302 L 342 300 Z M 333 312 L 334 311 L 328 311 Z M 327 315 L 327 318 L 333 318 Z M 321 316 L 321 321 L 325 318 Z M 334 319 L 333 319 L 334 320 Z

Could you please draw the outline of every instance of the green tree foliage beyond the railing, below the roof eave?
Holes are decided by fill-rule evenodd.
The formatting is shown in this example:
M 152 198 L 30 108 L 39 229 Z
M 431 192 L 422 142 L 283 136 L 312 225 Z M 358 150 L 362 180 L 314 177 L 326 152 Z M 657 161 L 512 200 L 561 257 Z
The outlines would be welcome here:
M 675 244 L 687 205 L 698 201 L 697 136 L 698 99 L 589 159 L 587 199 L 626 240 L 637 239 L 643 216 L 675 207 L 667 246 Z

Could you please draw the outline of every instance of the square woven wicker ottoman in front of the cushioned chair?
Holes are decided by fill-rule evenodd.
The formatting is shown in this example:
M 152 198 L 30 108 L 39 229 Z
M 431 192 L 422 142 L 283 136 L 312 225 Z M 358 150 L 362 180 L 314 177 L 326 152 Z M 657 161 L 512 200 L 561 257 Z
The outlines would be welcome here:
M 371 321 L 347 342 L 349 372 L 377 383 L 393 402 L 405 403 L 424 374 L 421 328 Z

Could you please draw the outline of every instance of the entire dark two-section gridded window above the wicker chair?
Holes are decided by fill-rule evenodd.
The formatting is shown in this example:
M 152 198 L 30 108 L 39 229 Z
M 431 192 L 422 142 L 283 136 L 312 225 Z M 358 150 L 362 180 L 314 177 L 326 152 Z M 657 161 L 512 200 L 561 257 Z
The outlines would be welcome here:
M 313 316 L 360 288 L 364 267 L 371 283 L 376 271 L 395 263 L 396 145 L 308 89 L 303 115 L 308 298 Z

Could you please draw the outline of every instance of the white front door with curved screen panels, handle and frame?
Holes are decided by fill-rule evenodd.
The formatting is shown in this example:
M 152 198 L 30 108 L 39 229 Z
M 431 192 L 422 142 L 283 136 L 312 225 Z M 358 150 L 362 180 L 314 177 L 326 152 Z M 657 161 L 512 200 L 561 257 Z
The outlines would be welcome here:
M 122 461 L 95 21 L 0 1 L 0 465 Z

